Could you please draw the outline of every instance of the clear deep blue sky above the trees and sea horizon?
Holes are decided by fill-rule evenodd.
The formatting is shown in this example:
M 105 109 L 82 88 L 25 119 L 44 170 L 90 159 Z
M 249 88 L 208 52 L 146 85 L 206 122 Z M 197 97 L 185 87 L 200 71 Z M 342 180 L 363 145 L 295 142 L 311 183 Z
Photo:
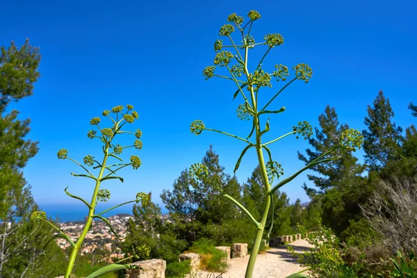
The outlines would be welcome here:
M 138 191 L 152 191 L 159 203 L 161 191 L 172 188 L 181 170 L 200 162 L 211 144 L 232 174 L 245 145 L 218 133 L 194 136 L 189 126 L 199 119 L 238 136 L 250 131 L 250 123 L 236 117 L 242 101 L 231 101 L 234 83 L 202 76 L 213 63 L 213 42 L 227 16 L 246 18 L 249 10 L 262 15 L 252 28 L 255 40 L 266 33 L 284 37 L 265 60 L 266 70 L 277 63 L 308 63 L 313 69 L 308 84 L 297 82 L 274 101 L 271 108 L 286 106 L 286 111 L 272 116 L 265 140 L 291 131 L 300 120 L 316 126 L 327 104 L 341 123 L 362 130 L 366 107 L 381 89 L 397 124 L 416 122 L 407 109 L 410 101 L 417 103 L 414 1 L 4 1 L 0 45 L 30 38 L 42 54 L 33 96 L 12 106 L 31 118 L 30 138 L 40 142 L 24 169 L 35 200 L 76 203 L 63 192 L 65 186 L 90 199 L 91 181 L 72 177 L 79 169 L 58 161 L 56 152 L 68 149 L 79 161 L 86 154 L 99 156 L 99 141 L 86 137 L 90 119 L 118 104 L 132 104 L 140 114 L 132 129 L 143 132 L 143 148 L 136 152 L 142 166 L 121 172 L 124 183 L 104 185 L 111 203 L 133 199 Z M 282 84 L 262 91 L 261 101 Z M 272 145 L 285 177 L 303 166 L 297 150 L 306 147 L 293 136 Z M 252 149 L 238 181 L 246 181 L 256 164 Z M 283 188 L 291 202 L 308 200 L 304 181 L 311 185 L 302 174 Z

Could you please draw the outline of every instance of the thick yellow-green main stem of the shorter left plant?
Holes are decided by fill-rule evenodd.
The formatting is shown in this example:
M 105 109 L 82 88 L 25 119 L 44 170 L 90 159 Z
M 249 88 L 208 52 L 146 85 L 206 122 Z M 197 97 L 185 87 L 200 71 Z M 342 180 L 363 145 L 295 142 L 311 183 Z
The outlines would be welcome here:
M 81 245 L 83 244 L 84 238 L 87 235 L 87 232 L 90 229 L 90 226 L 92 224 L 92 215 L 94 215 L 95 213 L 97 193 L 99 192 L 99 188 L 100 188 L 100 179 L 101 177 L 103 177 L 104 170 L 106 169 L 107 158 L 108 158 L 108 147 L 106 147 L 106 152 L 104 154 L 103 163 L 101 163 L 99 177 L 96 181 L 94 193 L 92 194 L 91 203 L 90 203 L 91 208 L 88 210 L 87 222 L 85 222 L 84 229 L 81 232 L 81 235 L 79 236 L 78 240 L 76 240 L 75 247 L 72 249 L 72 252 L 70 255 L 70 261 L 68 261 L 67 270 L 65 272 L 65 278 L 70 278 L 70 275 L 72 273 L 72 268 L 74 268 L 76 255 L 78 254 L 79 249 L 81 248 Z

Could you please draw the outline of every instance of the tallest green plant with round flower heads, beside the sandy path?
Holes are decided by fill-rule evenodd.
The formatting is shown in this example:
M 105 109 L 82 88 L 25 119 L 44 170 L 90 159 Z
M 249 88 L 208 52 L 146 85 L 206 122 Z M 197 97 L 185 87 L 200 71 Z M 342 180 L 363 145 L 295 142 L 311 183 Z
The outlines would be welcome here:
M 275 71 L 272 73 L 265 72 L 263 70 L 263 60 L 269 53 L 269 51 L 275 47 L 278 47 L 279 45 L 283 44 L 284 39 L 282 36 L 278 33 L 275 34 L 267 34 L 263 38 L 262 42 L 256 43 L 254 38 L 251 35 L 251 29 L 254 22 L 261 18 L 261 15 L 256 12 L 256 10 L 251 10 L 247 17 L 249 17 L 249 21 L 244 24 L 243 17 L 240 17 L 236 15 L 236 13 L 229 15 L 227 18 L 227 21 L 231 24 L 225 24 L 220 28 L 219 35 L 229 38 L 230 43 L 229 45 L 224 45 L 222 40 L 216 40 L 214 43 L 214 50 L 218 53 L 214 58 L 214 65 L 208 66 L 203 70 L 203 75 L 206 77 L 206 79 L 210 79 L 214 76 L 220 77 L 222 79 L 228 79 L 231 81 L 234 81 L 236 83 L 236 86 L 238 87 L 238 90 L 234 93 L 234 99 L 240 95 L 243 98 L 243 104 L 240 104 L 238 106 L 238 117 L 240 120 L 252 120 L 252 129 L 247 136 L 247 138 L 242 138 L 239 136 L 235 136 L 233 134 L 219 131 L 216 129 L 208 128 L 204 125 L 202 120 L 195 120 L 190 125 L 190 130 L 195 135 L 199 135 L 202 133 L 202 131 L 215 131 L 218 133 L 222 133 L 226 136 L 236 138 L 242 142 L 245 142 L 246 147 L 243 149 L 243 152 L 240 154 L 240 157 L 238 158 L 238 161 L 236 163 L 236 166 L 234 168 L 234 172 L 239 168 L 240 162 L 242 161 L 243 156 L 245 153 L 251 149 L 254 148 L 256 150 L 256 155 L 258 157 L 258 162 L 261 167 L 261 174 L 263 179 L 263 185 L 264 185 L 264 192 L 265 192 L 265 199 L 263 200 L 263 212 L 261 213 L 261 218 L 256 219 L 252 215 L 250 211 L 245 208 L 238 200 L 236 200 L 233 196 L 221 193 L 221 195 L 228 199 L 230 202 L 236 204 L 238 208 L 240 208 L 253 222 L 254 226 L 256 227 L 256 238 L 254 239 L 254 247 L 252 250 L 252 253 L 250 255 L 250 261 L 247 265 L 246 270 L 246 278 L 252 277 L 252 273 L 254 270 L 254 265 L 256 261 L 256 256 L 259 251 L 259 247 L 261 245 L 261 239 L 263 231 L 265 230 L 265 223 L 267 221 L 269 211 L 272 209 L 274 211 L 274 204 L 271 202 L 272 194 L 275 193 L 281 186 L 284 186 L 289 181 L 292 181 L 297 175 L 304 172 L 305 170 L 318 165 L 320 163 L 324 163 L 327 161 L 334 161 L 336 159 L 340 159 L 341 156 L 330 156 L 329 154 L 332 154 L 337 149 L 341 149 L 343 151 L 349 151 L 354 150 L 361 146 L 363 140 L 363 136 L 361 136 L 361 133 L 355 129 L 345 129 L 339 138 L 339 144 L 335 145 L 333 147 L 330 147 L 327 151 L 323 152 L 321 155 L 317 156 L 316 159 L 313 161 L 310 161 L 309 164 L 307 164 L 305 167 L 303 167 L 300 171 L 296 172 L 295 174 L 292 174 L 290 177 L 283 179 L 279 181 L 275 186 L 273 185 L 274 179 L 279 179 L 281 175 L 283 174 L 282 167 L 277 161 L 274 161 L 272 159 L 272 154 L 270 152 L 270 149 L 268 148 L 268 145 L 277 142 L 278 140 L 281 140 L 282 138 L 285 138 L 286 136 L 289 136 L 291 134 L 294 134 L 296 138 L 299 138 L 300 136 L 304 137 L 304 139 L 309 138 L 312 134 L 311 125 L 308 122 L 299 122 L 296 126 L 293 126 L 293 131 L 290 131 L 288 133 L 285 133 L 283 136 L 280 136 L 279 138 L 276 138 L 275 140 L 272 140 L 270 142 L 263 143 L 261 138 L 262 136 L 270 131 L 270 124 L 269 124 L 269 117 L 268 120 L 265 121 L 265 128 L 261 129 L 261 117 L 264 117 L 266 115 L 272 115 L 272 114 L 278 114 L 285 111 L 285 108 L 282 107 L 278 110 L 268 110 L 268 107 L 270 104 L 272 104 L 272 101 L 275 100 L 275 98 L 291 83 L 293 83 L 296 80 L 302 80 L 305 83 L 309 82 L 309 79 L 311 78 L 311 74 L 313 73 L 311 71 L 311 67 L 309 65 L 306 65 L 304 63 L 296 65 L 293 67 L 293 70 L 295 70 L 295 77 L 291 79 L 286 85 L 284 85 L 265 105 L 262 106 L 262 104 L 258 101 L 259 96 L 259 90 L 261 88 L 265 87 L 272 87 L 271 85 L 271 79 L 272 77 L 275 77 L 277 81 L 286 81 L 287 77 L 290 75 L 288 73 L 288 67 L 282 64 L 275 65 Z M 238 33 L 241 38 L 241 43 L 236 44 L 235 41 L 232 38 L 233 33 Z M 260 47 L 260 46 L 266 46 L 267 49 L 265 51 L 265 54 L 259 61 L 259 63 L 255 63 L 254 72 L 249 71 L 249 52 L 254 49 L 254 47 Z M 236 54 L 232 54 L 230 51 L 223 50 L 223 49 L 234 49 Z M 232 60 L 236 60 L 236 64 L 232 65 Z M 229 76 L 225 76 L 222 74 L 216 74 L 216 66 L 223 67 L 227 69 L 227 72 L 229 72 Z M 244 91 L 244 89 L 246 90 Z M 252 138 L 253 141 L 250 140 Z M 268 154 L 267 162 L 265 162 L 265 159 L 263 157 L 263 151 L 266 151 Z M 207 167 L 202 163 L 196 163 L 190 167 L 190 175 L 192 177 L 196 177 L 201 180 L 207 181 L 210 177 L 210 174 L 208 173 Z M 273 213 L 272 213 L 273 215 Z M 271 221 L 273 223 L 273 221 Z

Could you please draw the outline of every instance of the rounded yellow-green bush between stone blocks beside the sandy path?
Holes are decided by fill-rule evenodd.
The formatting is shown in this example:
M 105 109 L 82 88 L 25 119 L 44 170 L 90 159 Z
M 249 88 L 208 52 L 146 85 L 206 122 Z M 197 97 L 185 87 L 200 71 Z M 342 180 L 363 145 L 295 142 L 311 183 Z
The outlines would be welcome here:
M 224 272 L 227 268 L 226 254 L 215 249 L 214 243 L 208 238 L 200 238 L 189 250 L 201 255 L 199 267 L 203 270 Z

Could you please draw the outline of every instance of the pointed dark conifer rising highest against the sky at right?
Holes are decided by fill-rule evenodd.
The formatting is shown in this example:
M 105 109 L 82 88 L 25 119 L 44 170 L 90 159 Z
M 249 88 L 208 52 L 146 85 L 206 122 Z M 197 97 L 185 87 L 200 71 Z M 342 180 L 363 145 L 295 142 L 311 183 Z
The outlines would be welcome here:
M 367 111 L 364 122 L 368 130 L 362 132 L 365 163 L 371 171 L 381 170 L 389 161 L 398 159 L 402 129 L 392 122 L 394 113 L 382 90 L 373 101 L 373 107 L 368 106 Z

